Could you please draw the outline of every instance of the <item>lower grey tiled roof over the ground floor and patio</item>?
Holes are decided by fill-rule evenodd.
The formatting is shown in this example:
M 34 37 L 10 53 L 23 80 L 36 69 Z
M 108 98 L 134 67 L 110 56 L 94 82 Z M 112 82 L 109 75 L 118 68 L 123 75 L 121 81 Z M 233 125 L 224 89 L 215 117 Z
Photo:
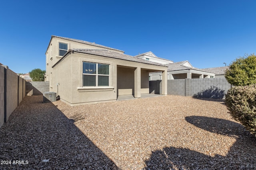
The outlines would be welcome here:
M 157 66 L 166 66 L 164 64 L 159 64 L 159 63 L 154 63 L 151 61 L 146 61 L 143 59 L 138 59 L 136 57 L 132 57 L 130 55 L 126 54 L 121 54 L 121 53 L 116 53 L 114 51 L 109 51 L 109 50 L 101 50 L 101 49 L 70 49 L 68 52 L 52 67 L 60 63 L 63 59 L 65 59 L 69 53 L 85 53 L 85 54 L 91 54 L 91 55 L 97 55 L 97 56 L 103 56 L 103 57 L 109 57 L 109 58 L 114 58 L 114 59 L 120 59 L 120 60 L 126 60 L 126 61 L 133 61 L 137 63 L 145 63 L 145 64 L 152 64 L 152 65 L 157 65 Z

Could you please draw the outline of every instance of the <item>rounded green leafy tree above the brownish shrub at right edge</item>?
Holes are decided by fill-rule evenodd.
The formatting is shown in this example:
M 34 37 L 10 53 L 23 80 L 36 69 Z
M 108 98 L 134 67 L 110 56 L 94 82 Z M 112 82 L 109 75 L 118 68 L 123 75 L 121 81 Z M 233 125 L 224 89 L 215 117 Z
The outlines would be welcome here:
M 251 54 L 237 58 L 229 65 L 225 77 L 234 86 L 256 84 L 256 56 Z

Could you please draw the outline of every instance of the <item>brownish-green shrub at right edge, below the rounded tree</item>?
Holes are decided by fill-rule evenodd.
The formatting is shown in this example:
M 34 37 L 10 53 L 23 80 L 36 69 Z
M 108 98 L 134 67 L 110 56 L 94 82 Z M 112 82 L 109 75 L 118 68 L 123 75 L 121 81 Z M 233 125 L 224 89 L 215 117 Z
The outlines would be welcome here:
M 256 84 L 232 87 L 225 97 L 230 115 L 256 136 Z

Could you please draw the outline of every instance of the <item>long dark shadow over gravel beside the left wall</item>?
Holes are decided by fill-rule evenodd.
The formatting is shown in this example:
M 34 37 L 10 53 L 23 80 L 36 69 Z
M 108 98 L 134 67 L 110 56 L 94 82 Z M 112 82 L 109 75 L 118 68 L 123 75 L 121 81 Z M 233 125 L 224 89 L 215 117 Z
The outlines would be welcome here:
M 0 128 L 1 170 L 118 169 L 73 119 L 42 100 L 26 96 Z

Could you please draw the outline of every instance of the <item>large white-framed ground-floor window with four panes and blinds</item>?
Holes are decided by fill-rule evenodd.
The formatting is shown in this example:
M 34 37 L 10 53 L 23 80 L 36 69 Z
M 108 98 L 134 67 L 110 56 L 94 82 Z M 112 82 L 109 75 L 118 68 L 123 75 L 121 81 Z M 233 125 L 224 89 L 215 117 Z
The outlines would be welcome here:
M 109 65 L 83 62 L 83 86 L 109 86 Z

